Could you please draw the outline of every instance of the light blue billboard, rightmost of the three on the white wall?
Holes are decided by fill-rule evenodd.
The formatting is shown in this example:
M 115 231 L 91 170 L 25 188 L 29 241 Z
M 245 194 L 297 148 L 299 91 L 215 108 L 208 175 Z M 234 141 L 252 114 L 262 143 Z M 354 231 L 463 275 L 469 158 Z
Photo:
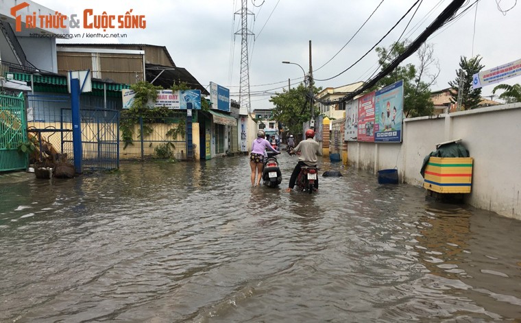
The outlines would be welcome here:
M 376 91 L 375 112 L 374 141 L 400 143 L 402 141 L 403 80 Z

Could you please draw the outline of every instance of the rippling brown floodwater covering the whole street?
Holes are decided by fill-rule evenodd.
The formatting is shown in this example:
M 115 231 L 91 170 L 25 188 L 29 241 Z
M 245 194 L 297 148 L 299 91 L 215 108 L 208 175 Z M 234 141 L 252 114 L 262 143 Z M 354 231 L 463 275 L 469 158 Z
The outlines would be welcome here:
M 311 195 L 247 156 L 4 174 L 0 322 L 520 322 L 521 222 L 320 167 Z

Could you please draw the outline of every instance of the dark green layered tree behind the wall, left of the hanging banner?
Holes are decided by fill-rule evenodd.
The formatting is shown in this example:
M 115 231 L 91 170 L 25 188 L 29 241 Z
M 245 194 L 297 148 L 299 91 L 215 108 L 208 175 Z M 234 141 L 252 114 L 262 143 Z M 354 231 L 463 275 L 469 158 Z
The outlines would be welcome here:
M 478 107 L 481 102 L 481 88 L 472 90 L 472 76 L 479 73 L 485 67 L 481 65 L 481 57 L 475 56 L 467 59 L 461 56 L 459 59 L 459 69 L 456 70 L 456 78 L 454 81 L 448 82 L 452 88 L 450 101 L 454 104 L 458 103 L 458 92 L 461 71 L 465 72 L 463 77 L 463 87 L 461 88 L 461 110 L 471 110 Z

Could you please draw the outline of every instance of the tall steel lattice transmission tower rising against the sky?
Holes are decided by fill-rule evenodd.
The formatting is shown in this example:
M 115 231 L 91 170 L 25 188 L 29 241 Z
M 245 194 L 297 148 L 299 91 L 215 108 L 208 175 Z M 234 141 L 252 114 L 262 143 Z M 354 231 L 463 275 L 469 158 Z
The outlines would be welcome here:
M 250 67 L 248 65 L 248 36 L 253 35 L 248 30 L 248 14 L 252 14 L 247 9 L 247 0 L 242 1 L 241 11 L 235 12 L 241 15 L 241 30 L 236 35 L 241 35 L 241 85 L 239 88 L 239 115 L 250 113 Z

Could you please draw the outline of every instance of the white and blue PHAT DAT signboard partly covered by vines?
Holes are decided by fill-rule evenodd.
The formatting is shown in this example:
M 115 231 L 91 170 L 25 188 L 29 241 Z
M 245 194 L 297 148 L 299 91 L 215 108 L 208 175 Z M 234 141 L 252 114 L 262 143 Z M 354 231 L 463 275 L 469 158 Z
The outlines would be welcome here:
M 130 109 L 134 103 L 134 96 L 136 93 L 130 89 L 121 90 L 123 100 L 123 109 Z M 193 110 L 201 110 L 201 90 L 158 90 L 158 97 L 156 102 L 149 106 L 158 108 L 165 106 L 172 110 L 186 110 L 186 104 L 191 103 Z

